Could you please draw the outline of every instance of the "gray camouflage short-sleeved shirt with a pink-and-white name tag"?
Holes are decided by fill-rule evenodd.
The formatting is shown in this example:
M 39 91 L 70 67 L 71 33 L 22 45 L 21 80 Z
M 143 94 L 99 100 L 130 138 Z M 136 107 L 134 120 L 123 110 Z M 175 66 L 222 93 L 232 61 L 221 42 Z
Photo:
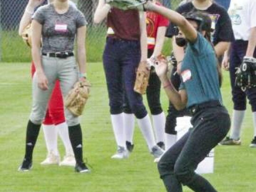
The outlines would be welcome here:
M 82 12 L 73 6 L 58 14 L 52 4 L 45 5 L 37 9 L 33 19 L 43 25 L 43 53 L 73 51 L 77 28 L 87 25 Z

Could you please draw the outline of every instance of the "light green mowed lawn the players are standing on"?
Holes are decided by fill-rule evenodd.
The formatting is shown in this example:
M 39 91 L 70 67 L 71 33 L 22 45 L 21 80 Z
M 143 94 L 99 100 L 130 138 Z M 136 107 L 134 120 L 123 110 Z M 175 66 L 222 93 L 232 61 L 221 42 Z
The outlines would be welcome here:
M 113 160 L 116 150 L 110 123 L 108 95 L 101 63 L 89 64 L 91 98 L 82 115 L 84 157 L 91 174 L 76 174 L 73 167 L 41 166 L 46 157 L 43 133 L 34 150 L 33 169 L 17 171 L 25 150 L 26 124 L 31 107 L 30 64 L 0 63 L 0 192 L 165 192 L 156 164 L 136 128 L 135 149 L 128 159 Z M 162 92 L 163 108 L 167 98 Z M 229 75 L 224 73 L 224 103 L 232 111 Z M 146 103 L 146 102 L 145 102 Z M 214 174 L 205 175 L 218 192 L 256 192 L 256 149 L 249 148 L 253 123 L 248 107 L 242 146 L 218 146 Z M 64 148 L 59 141 L 59 150 Z M 184 192 L 190 192 L 184 188 Z

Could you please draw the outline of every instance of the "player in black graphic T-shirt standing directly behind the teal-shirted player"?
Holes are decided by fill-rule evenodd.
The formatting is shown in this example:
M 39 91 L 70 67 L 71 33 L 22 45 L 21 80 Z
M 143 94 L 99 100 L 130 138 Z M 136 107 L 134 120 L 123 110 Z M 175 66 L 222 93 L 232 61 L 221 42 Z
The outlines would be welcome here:
M 228 49 L 230 42 L 234 39 L 231 21 L 227 11 L 223 7 L 212 2 L 212 0 L 192 0 L 191 2 L 187 2 L 176 9 L 176 11 L 180 14 L 189 13 L 193 10 L 204 11 L 210 15 L 212 21 L 212 32 L 210 39 L 214 45 L 214 50 L 217 54 L 217 57 L 219 60 L 221 60 L 225 50 Z M 177 34 L 174 29 L 174 25 L 171 23 L 168 27 L 166 36 L 174 37 L 173 50 L 174 56 L 177 59 L 178 67 L 177 69 L 174 68 L 171 80 L 174 84 L 174 87 L 178 89 L 180 86 L 180 75 L 176 73 L 176 70 L 179 72 L 179 66 L 181 66 L 183 61 L 185 44 L 183 38 L 176 36 Z M 187 115 L 185 110 L 177 111 L 172 103 L 170 103 L 165 124 L 167 149 L 172 146 L 174 142 L 176 142 L 176 117 L 182 117 L 184 115 Z

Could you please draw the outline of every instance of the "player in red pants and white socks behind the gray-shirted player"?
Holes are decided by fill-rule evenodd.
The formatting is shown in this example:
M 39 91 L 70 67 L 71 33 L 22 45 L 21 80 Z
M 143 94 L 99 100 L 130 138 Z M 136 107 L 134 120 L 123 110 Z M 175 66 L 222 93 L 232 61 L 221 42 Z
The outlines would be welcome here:
M 51 1 L 50 1 L 51 2 Z M 31 23 L 32 14 L 34 10 L 39 5 L 46 5 L 47 0 L 30 0 L 27 4 L 26 11 L 22 16 L 19 25 L 19 35 L 22 34 L 24 28 Z M 69 4 L 75 6 L 72 1 L 69 1 Z M 30 13 L 31 12 L 31 13 Z M 36 71 L 34 62 L 31 64 L 31 75 L 33 77 Z M 46 159 L 41 162 L 41 165 L 51 165 L 51 164 L 59 164 L 60 166 L 75 166 L 75 159 L 73 154 L 73 149 L 70 143 L 69 135 L 68 135 L 68 127 L 65 122 L 64 117 L 64 106 L 63 106 L 63 98 L 60 90 L 59 80 L 56 80 L 55 87 L 53 90 L 53 94 L 48 103 L 48 109 L 46 111 L 46 117 L 43 122 L 43 132 L 46 141 L 46 148 L 48 151 Z M 57 147 L 57 136 L 60 135 L 64 147 L 66 155 L 64 156 L 63 161 L 60 162 L 60 155 Z

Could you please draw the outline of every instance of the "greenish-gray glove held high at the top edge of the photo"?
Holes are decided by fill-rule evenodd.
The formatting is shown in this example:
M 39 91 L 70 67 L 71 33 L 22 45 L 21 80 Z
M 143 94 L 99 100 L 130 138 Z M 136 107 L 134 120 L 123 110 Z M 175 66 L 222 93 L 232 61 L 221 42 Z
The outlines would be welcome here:
M 144 4 L 146 0 L 106 0 L 110 6 L 122 10 L 137 8 L 138 10 L 145 10 Z

